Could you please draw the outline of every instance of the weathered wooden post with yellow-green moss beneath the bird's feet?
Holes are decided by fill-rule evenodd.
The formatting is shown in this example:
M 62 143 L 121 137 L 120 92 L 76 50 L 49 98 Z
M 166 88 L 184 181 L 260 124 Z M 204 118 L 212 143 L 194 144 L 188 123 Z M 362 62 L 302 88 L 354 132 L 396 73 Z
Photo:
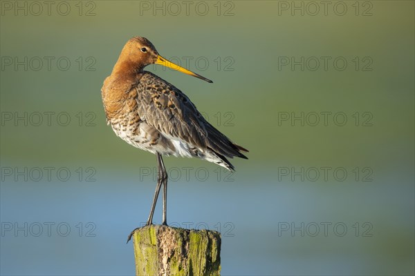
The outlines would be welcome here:
M 133 243 L 136 275 L 220 275 L 219 232 L 151 225 L 136 229 Z

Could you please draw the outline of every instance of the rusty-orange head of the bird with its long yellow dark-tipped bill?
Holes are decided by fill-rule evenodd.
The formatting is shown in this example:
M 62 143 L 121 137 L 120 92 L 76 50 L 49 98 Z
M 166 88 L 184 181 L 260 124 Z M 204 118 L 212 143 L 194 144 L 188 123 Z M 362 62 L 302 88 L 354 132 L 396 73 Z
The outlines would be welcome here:
M 164 57 L 161 57 L 158 55 L 156 47 L 154 47 L 153 43 L 145 37 L 133 37 L 130 39 L 122 49 L 120 57 L 124 60 L 127 59 L 130 63 L 133 63 L 134 67 L 139 70 L 142 70 L 142 68 L 145 68 L 145 66 L 148 66 L 149 64 L 160 64 L 174 70 L 178 70 L 179 72 L 183 72 L 187 75 L 203 79 L 204 81 L 208 81 L 210 83 L 213 82 L 210 79 L 206 79 L 195 72 L 187 70 L 175 63 L 172 63 L 172 61 L 168 61 Z

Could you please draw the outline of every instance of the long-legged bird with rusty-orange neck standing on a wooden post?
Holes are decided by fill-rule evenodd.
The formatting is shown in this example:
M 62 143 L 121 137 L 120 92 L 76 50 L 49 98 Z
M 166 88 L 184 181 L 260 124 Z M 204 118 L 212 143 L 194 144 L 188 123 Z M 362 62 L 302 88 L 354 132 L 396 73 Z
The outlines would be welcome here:
M 196 157 L 230 171 L 234 171 L 234 166 L 228 158 L 248 159 L 242 153 L 248 150 L 234 144 L 206 121 L 181 90 L 145 71 L 150 64 L 163 65 L 212 83 L 158 55 L 153 43 L 145 37 L 132 37 L 125 43 L 111 75 L 104 80 L 101 95 L 107 124 L 131 146 L 156 155 L 157 184 L 145 226 L 153 224 L 162 185 L 162 224 L 167 225 L 167 172 L 163 156 Z

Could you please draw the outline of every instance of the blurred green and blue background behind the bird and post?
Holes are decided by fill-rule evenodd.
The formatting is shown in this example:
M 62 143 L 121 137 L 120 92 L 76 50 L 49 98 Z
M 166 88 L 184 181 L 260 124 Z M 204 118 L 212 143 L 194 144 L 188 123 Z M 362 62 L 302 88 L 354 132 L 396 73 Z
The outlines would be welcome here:
M 100 88 L 136 35 L 214 81 L 147 67 L 250 150 L 232 175 L 165 158 L 168 222 L 220 228 L 223 275 L 414 275 L 414 1 L 49 8 L 1 1 L 1 275 L 135 273 L 156 159 Z

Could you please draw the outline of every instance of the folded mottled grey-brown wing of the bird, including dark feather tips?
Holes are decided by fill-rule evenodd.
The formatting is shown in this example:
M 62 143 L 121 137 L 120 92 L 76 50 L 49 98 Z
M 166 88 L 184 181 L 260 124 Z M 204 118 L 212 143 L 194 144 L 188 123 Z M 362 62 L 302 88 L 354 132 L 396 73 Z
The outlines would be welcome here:
M 192 101 L 172 84 L 145 71 L 137 89 L 140 118 L 163 135 L 202 150 L 212 150 L 227 163 L 225 157 L 247 159 L 241 151 L 248 150 L 234 144 L 209 124 Z

